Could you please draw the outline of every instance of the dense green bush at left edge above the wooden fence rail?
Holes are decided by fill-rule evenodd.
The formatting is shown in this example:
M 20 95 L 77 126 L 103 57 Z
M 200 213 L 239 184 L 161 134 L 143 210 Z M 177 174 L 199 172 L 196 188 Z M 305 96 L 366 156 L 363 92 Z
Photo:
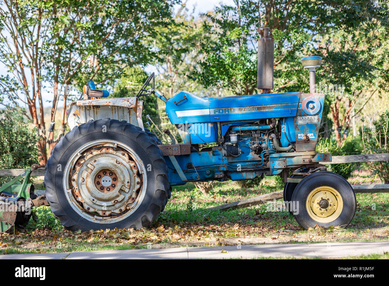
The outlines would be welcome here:
M 38 163 L 37 133 L 24 121 L 21 109 L 0 109 L 0 168 L 22 169 Z M 12 177 L 0 177 L 0 185 Z

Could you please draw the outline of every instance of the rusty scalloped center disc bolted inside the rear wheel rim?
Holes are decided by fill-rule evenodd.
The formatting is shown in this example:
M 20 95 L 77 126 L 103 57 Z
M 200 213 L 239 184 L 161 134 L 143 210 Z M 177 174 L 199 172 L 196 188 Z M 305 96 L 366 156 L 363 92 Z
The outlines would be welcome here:
M 92 149 L 75 164 L 71 176 L 73 196 L 81 207 L 99 216 L 112 216 L 131 209 L 141 180 L 137 164 L 124 150 Z

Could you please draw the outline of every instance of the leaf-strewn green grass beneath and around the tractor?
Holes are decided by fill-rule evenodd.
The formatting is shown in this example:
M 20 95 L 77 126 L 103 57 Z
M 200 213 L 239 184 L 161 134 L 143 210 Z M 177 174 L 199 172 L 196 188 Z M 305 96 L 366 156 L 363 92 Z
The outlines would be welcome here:
M 354 171 L 349 181 L 352 184 L 380 183 L 365 171 Z M 51 229 L 50 226 L 56 224 L 50 218 L 50 211 L 41 210 L 39 217 L 47 221 L 31 219 L 27 228 L 16 229 L 15 235 L 0 235 L 0 254 L 388 240 L 389 193 L 356 194 L 357 211 L 346 229 L 303 230 L 289 212 L 274 211 L 282 205 L 282 200 L 232 211 L 207 209 L 277 190 L 280 189 L 272 177 L 266 177 L 255 188 L 242 188 L 231 181 L 218 183 L 209 195 L 202 194 L 193 183 L 176 186 L 165 211 L 149 229 L 141 230 L 72 233 L 61 226 Z

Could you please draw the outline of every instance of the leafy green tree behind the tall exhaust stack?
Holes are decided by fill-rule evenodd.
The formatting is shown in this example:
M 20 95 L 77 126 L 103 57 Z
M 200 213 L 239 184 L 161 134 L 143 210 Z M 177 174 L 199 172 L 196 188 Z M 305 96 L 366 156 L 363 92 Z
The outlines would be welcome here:
M 308 91 L 307 72 L 301 68 L 302 56 L 319 53 L 316 49 L 323 37 L 338 31 L 345 34 L 356 31 L 372 19 L 382 23 L 388 14 L 386 1 L 235 0 L 234 3 L 222 4 L 214 12 L 203 15 L 213 41 L 200 48 L 204 61 L 196 74 L 205 86 L 215 84 L 237 95 L 258 92 L 256 30 L 259 26 L 269 27 L 275 42 L 274 81 L 278 87 L 273 92 Z M 366 39 L 366 34 L 352 35 L 359 37 L 359 41 Z M 360 68 L 366 67 L 363 66 L 366 60 Z M 318 74 L 326 76 L 320 69 Z

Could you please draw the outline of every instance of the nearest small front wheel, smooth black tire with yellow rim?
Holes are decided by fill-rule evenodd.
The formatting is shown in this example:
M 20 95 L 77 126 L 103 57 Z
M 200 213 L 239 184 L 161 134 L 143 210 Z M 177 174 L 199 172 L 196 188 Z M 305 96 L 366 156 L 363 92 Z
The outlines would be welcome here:
M 303 178 L 292 195 L 293 216 L 308 229 L 315 226 L 346 227 L 355 214 L 356 198 L 349 182 L 332 172 Z

